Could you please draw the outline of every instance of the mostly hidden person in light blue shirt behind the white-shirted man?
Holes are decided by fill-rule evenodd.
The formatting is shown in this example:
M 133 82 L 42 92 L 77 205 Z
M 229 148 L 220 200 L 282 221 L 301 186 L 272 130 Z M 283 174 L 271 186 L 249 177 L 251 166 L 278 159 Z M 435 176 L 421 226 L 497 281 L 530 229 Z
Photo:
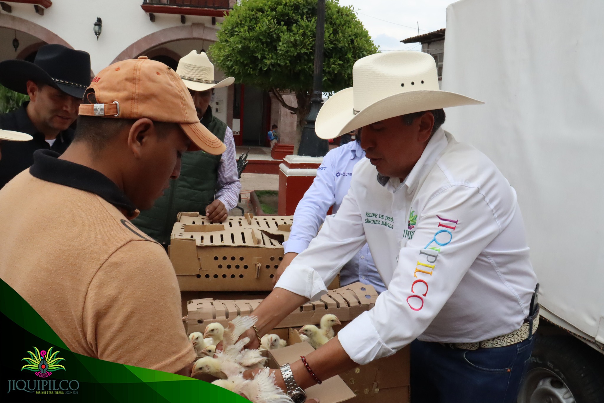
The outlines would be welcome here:
M 350 189 L 353 167 L 365 158 L 365 151 L 359 141 L 360 137 L 357 135 L 356 141 L 331 150 L 323 158 L 323 164 L 316 171 L 315 180 L 296 207 L 289 239 L 283 243 L 285 255 L 280 269 L 285 269 L 297 254 L 306 250 L 310 240 L 316 236 L 325 221 L 329 207 L 333 205 L 333 214 L 338 211 L 342 199 Z M 377 292 L 386 289 L 377 273 L 367 243 L 340 272 L 342 286 L 356 282 L 372 285 Z

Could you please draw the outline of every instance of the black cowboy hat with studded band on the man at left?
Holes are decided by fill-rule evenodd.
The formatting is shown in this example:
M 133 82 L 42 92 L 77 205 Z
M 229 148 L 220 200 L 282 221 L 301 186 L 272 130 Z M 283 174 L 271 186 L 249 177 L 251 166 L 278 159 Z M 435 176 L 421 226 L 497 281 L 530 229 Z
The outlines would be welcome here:
M 40 47 L 33 63 L 16 59 L 0 62 L 0 83 L 5 87 L 27 94 L 28 80 L 45 83 L 82 99 L 90 85 L 90 55 L 51 44 Z

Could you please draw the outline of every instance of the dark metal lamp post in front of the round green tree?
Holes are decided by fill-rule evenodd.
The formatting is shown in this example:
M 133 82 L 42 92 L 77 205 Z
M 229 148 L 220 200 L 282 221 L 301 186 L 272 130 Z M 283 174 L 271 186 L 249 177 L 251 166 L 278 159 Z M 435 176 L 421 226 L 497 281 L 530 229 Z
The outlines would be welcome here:
M 315 71 L 312 84 L 312 98 L 310 98 L 310 111 L 306 117 L 306 124 L 302 129 L 302 138 L 298 155 L 324 156 L 329 151 L 327 140 L 316 136 L 315 120 L 323 104 L 323 42 L 325 36 L 325 0 L 318 0 L 316 5 L 316 42 L 315 42 Z

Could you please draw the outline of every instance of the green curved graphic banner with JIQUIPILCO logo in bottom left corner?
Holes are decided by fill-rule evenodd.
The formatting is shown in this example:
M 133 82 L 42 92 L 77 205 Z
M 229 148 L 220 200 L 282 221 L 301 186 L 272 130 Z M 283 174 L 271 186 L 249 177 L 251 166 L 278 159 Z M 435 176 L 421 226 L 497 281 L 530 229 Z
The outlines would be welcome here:
M 2 280 L 0 343 L 2 402 L 248 402 L 198 379 L 71 352 Z

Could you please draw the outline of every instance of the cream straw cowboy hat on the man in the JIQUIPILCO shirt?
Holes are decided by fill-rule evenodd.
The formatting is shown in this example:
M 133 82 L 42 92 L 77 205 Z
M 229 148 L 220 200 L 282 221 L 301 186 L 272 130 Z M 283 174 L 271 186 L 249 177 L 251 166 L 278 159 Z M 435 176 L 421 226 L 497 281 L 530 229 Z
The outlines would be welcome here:
M 481 101 L 440 91 L 434 58 L 418 51 L 376 53 L 356 61 L 351 88 L 333 94 L 316 117 L 315 131 L 330 139 L 376 121 Z

